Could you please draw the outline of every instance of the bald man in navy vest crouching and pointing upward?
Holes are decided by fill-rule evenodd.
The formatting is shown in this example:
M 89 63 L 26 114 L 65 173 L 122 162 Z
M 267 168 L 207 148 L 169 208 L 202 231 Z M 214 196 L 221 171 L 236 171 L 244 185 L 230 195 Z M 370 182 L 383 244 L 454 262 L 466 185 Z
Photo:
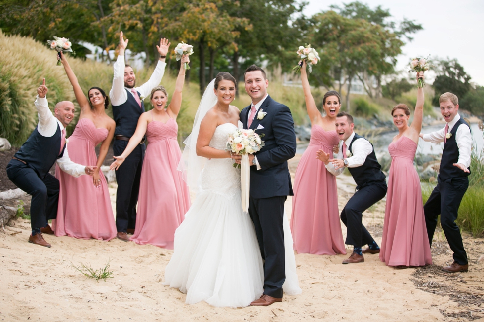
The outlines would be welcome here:
M 82 166 L 69 159 L 65 127 L 74 117 L 74 105 L 69 101 L 59 102 L 52 114 L 45 97 L 47 92 L 44 78 L 34 103 L 39 113 L 39 124 L 8 163 L 7 175 L 17 187 L 32 195 L 32 234 L 29 242 L 50 247 L 42 233 L 54 234 L 47 220 L 57 216 L 59 200 L 59 180 L 49 173 L 50 168 L 57 162 L 64 172 L 79 177 L 85 174 L 92 176 L 97 167 Z

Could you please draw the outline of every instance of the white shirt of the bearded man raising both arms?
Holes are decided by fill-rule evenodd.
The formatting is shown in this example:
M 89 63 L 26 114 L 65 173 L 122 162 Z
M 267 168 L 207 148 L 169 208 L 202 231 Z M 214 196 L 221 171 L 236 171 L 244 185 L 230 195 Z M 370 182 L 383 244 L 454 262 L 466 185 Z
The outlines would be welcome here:
M 133 95 L 134 97 L 134 93 L 131 92 L 131 88 L 124 87 L 124 67 L 124 55 L 119 55 L 116 63 L 113 65 L 113 87 L 109 92 L 109 99 L 111 100 L 111 104 L 113 106 L 120 106 L 128 100 L 128 94 L 126 93 L 125 89 L 127 89 L 130 95 Z M 159 60 L 150 79 L 143 85 L 134 88 L 141 94 L 141 101 L 150 96 L 151 90 L 160 84 L 161 78 L 163 78 L 165 67 L 166 63 Z

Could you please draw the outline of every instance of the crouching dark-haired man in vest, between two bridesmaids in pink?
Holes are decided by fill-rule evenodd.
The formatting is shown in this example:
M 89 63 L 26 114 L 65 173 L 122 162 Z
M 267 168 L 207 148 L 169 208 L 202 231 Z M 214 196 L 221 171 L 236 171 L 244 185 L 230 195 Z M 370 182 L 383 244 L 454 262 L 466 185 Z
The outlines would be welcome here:
M 363 212 L 387 193 L 385 175 L 376 159 L 373 145 L 353 132 L 353 127 L 353 117 L 346 112 L 340 112 L 336 116 L 336 132 L 341 139 L 337 156 L 329 159 L 329 153 L 323 150 L 319 150 L 316 155 L 335 176 L 348 168 L 357 184 L 357 191 L 341 212 L 341 221 L 347 227 L 345 244 L 353 245 L 353 253 L 343 264 L 361 263 L 364 262 L 363 253 L 380 252 L 380 247 L 363 226 L 362 220 Z M 368 245 L 368 248 L 362 250 L 363 245 Z

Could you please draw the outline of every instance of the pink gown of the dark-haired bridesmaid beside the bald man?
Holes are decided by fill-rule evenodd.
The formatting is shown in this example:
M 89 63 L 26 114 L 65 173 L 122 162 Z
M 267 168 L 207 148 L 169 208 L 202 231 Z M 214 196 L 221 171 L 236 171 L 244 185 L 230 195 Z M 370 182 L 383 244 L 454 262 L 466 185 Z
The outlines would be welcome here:
M 96 129 L 92 120 L 80 119 L 67 144 L 70 159 L 95 166 L 95 146 L 104 141 L 108 133 L 105 128 Z M 116 237 L 108 182 L 102 172 L 100 174 L 101 186 L 96 188 L 91 176 L 75 178 L 60 170 L 58 165 L 55 167 L 55 177 L 60 185 L 57 219 L 52 221 L 56 236 L 102 240 Z

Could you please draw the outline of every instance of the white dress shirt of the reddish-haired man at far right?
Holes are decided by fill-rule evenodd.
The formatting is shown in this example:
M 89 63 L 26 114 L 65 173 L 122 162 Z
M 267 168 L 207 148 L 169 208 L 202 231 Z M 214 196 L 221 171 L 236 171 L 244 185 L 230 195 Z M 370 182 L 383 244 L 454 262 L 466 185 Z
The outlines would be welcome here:
M 455 115 L 454 119 L 447 124 L 449 125 L 449 129 L 447 133 L 453 129 L 455 123 L 460 120 L 460 115 Z M 445 140 L 445 127 L 439 131 L 435 131 L 432 133 L 424 134 L 423 141 L 432 142 L 432 143 L 441 143 Z M 459 126 L 457 131 L 455 132 L 455 142 L 457 143 L 457 147 L 459 148 L 459 159 L 457 163 L 462 163 L 464 167 L 468 168 L 471 165 L 471 147 L 472 147 L 472 136 L 471 130 L 468 126 Z

